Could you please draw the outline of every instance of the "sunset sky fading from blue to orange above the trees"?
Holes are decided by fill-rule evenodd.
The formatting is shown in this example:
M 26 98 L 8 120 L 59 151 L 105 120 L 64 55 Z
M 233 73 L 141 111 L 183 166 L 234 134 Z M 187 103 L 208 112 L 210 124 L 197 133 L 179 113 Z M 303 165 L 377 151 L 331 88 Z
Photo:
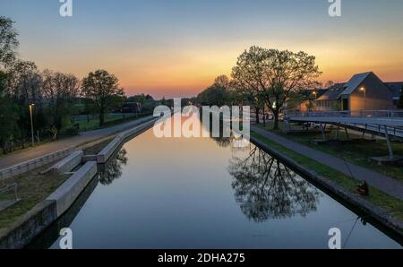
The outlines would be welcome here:
M 373 71 L 403 81 L 403 1 L 0 0 L 20 36 L 19 56 L 79 77 L 106 69 L 127 95 L 191 97 L 253 45 L 316 56 L 322 82 Z

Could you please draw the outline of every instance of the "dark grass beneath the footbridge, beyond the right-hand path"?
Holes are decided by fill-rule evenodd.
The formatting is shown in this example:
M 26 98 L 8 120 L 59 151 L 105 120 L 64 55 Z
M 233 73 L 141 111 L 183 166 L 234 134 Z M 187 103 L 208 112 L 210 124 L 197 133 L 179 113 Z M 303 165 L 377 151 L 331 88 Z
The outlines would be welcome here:
M 333 156 L 338 157 L 339 159 L 345 159 L 348 162 L 354 163 L 364 168 L 370 168 L 373 171 L 379 172 L 385 176 L 392 177 L 403 182 L 403 168 L 401 166 L 381 166 L 369 160 L 369 158 L 371 157 L 389 155 L 388 146 L 386 141 L 384 140 L 376 140 L 376 142 L 372 142 L 370 144 L 365 142 L 339 143 L 338 145 L 314 144 L 312 142 L 313 139 L 322 140 L 321 133 L 285 134 L 282 131 L 285 127 L 284 124 L 280 124 L 280 130 L 274 131 L 272 130 L 273 128 L 272 122 L 268 123 L 266 127 L 264 126 L 262 127 L 273 133 L 286 137 L 287 139 L 309 146 L 315 150 L 331 154 Z M 293 129 L 298 129 L 297 125 L 293 125 L 292 127 Z M 299 128 L 301 127 L 299 126 Z M 326 137 L 329 139 L 333 139 L 335 136 L 336 136 L 335 129 L 330 130 L 330 132 L 326 134 Z M 339 138 L 343 139 L 346 137 L 347 136 L 344 133 L 344 130 L 340 130 Z M 349 134 L 349 137 L 361 138 L 362 135 Z M 392 147 L 396 155 L 403 155 L 403 143 L 393 142 Z

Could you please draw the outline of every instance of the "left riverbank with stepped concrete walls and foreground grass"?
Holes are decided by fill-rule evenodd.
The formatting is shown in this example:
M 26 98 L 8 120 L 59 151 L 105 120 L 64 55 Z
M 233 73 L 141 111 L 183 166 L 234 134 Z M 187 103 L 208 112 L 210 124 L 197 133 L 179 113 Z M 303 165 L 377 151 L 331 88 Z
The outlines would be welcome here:
M 127 142 L 128 138 L 133 138 L 136 134 L 150 128 L 154 122 L 155 119 L 151 119 L 118 134 L 119 140 L 121 140 L 118 147 Z M 110 138 L 101 139 L 85 145 L 83 149 L 86 156 L 89 155 L 88 153 L 98 153 L 107 147 L 110 141 Z M 13 178 L 17 183 L 25 181 L 22 188 L 26 188 L 25 190 L 28 192 L 21 195 L 21 202 L 0 213 L 0 248 L 21 248 L 29 244 L 34 237 L 70 208 L 97 173 L 95 161 L 87 161 L 82 164 L 81 168 L 65 176 L 50 177 L 42 174 L 41 172 L 48 168 L 47 165 L 31 171 L 29 176 L 21 175 Z M 37 177 L 37 179 L 33 177 Z M 9 181 L 11 179 L 7 179 L 7 182 Z M 36 195 L 35 198 L 30 197 L 31 194 L 34 194 L 30 191 L 32 182 L 37 182 L 37 185 L 46 185 L 39 188 L 39 195 Z M 49 185 L 44 184 L 45 182 Z

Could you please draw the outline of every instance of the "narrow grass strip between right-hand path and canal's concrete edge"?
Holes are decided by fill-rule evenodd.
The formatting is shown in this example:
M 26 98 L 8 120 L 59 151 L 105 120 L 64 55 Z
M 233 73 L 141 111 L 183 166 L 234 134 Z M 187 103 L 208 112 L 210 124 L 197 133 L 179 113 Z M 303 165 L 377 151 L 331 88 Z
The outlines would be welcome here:
M 337 185 L 347 189 L 349 193 L 356 194 L 357 182 L 352 177 L 347 177 L 339 171 L 329 168 L 318 161 L 309 159 L 304 155 L 296 153 L 295 151 L 291 151 L 277 142 L 270 141 L 260 134 L 252 133 L 252 136 L 266 143 L 270 146 L 270 148 L 285 154 L 290 159 L 296 160 L 298 164 L 304 166 L 305 168 L 313 169 L 318 175 L 329 178 Z M 372 202 L 374 205 L 382 207 L 386 211 L 389 211 L 390 214 L 399 220 L 403 220 L 403 201 L 392 197 L 389 194 L 384 194 L 372 186 L 370 187 L 370 193 L 371 194 L 369 196 L 364 197 L 365 200 Z M 359 196 L 358 194 L 356 195 Z

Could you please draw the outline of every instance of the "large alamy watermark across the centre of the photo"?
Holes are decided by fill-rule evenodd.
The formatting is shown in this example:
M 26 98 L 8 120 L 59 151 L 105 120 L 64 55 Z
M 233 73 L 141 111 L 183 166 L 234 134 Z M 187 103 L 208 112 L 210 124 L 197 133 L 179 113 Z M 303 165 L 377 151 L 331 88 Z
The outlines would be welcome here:
M 157 138 L 232 138 L 234 147 L 245 147 L 251 136 L 250 110 L 248 106 L 182 108 L 181 99 L 174 99 L 174 108 L 154 109 L 154 116 L 161 117 L 153 131 Z

